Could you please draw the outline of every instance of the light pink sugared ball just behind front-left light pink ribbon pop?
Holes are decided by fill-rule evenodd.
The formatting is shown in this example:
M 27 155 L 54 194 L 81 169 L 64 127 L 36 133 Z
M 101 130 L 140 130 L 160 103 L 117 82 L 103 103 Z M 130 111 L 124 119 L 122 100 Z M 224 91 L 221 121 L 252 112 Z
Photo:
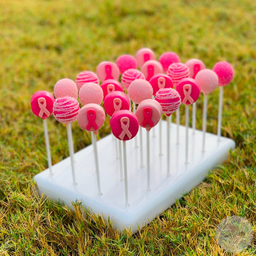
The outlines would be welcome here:
M 87 83 L 79 90 L 79 100 L 82 105 L 95 103 L 101 105 L 103 100 L 103 90 L 99 84 Z

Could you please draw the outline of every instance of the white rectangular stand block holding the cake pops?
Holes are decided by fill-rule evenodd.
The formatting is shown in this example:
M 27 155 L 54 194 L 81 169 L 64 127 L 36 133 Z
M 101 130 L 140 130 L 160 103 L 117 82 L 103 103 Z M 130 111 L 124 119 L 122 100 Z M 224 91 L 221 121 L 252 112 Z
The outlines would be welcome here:
M 120 181 L 119 160 L 115 157 L 115 141 L 111 134 L 97 142 L 99 172 L 102 195 L 98 195 L 97 178 L 92 145 L 74 155 L 77 185 L 71 178 L 70 157 L 35 175 L 39 193 L 60 201 L 72 208 L 72 202 L 81 201 L 85 209 L 100 214 L 105 220 L 113 221 L 113 228 L 124 230 L 143 227 L 175 201 L 204 180 L 208 171 L 228 158 L 230 149 L 235 148 L 233 140 L 206 133 L 205 152 L 202 150 L 202 131 L 189 128 L 189 157 L 185 164 L 185 132 L 180 125 L 180 144 L 177 145 L 177 126 L 170 128 L 170 175 L 167 177 L 166 139 L 163 138 L 163 155 L 159 155 L 159 125 L 155 136 L 150 134 L 150 184 L 147 191 L 147 168 L 140 168 L 140 148 L 135 148 L 134 139 L 126 142 L 128 167 L 128 203 L 125 207 L 124 181 Z M 166 134 L 167 124 L 162 120 L 162 132 Z M 143 129 L 143 144 L 146 145 L 146 131 Z M 146 150 L 143 152 L 146 159 Z

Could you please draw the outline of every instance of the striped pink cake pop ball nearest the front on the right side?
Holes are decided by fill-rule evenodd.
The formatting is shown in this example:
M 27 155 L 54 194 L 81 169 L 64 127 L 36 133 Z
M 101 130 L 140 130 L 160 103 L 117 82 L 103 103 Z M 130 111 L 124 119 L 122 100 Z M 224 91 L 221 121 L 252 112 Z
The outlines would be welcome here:
M 181 103 L 180 94 L 173 88 L 160 89 L 156 94 L 155 100 L 160 103 L 166 116 L 174 113 Z

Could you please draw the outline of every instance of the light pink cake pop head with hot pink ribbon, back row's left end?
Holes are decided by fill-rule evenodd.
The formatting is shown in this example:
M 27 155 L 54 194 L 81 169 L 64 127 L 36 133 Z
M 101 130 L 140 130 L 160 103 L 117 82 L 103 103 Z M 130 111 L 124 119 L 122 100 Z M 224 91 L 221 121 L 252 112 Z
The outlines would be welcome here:
M 118 80 L 120 76 L 119 68 L 115 63 L 110 61 L 101 62 L 96 69 L 96 73 L 102 82 L 108 79 Z

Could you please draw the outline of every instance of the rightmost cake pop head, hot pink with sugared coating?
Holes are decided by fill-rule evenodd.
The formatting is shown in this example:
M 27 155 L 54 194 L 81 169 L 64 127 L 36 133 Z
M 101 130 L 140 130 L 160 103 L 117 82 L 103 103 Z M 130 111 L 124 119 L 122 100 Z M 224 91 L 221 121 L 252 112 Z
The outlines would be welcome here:
M 218 85 L 224 86 L 229 84 L 234 76 L 234 70 L 232 66 L 225 62 L 217 62 L 212 69 L 218 76 Z

